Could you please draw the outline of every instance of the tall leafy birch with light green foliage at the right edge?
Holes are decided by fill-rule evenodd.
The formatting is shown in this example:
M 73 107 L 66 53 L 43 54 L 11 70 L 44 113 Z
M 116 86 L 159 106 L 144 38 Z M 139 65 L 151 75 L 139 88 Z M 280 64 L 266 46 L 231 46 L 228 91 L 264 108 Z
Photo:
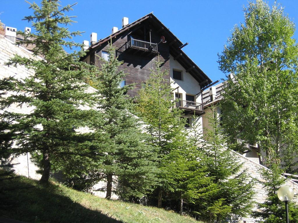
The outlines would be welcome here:
M 218 55 L 220 70 L 235 75 L 223 92 L 223 124 L 231 139 L 257 143 L 263 164 L 287 155 L 282 163 L 291 171 L 298 145 L 295 25 L 278 4 L 257 0 L 243 11 L 244 23 Z

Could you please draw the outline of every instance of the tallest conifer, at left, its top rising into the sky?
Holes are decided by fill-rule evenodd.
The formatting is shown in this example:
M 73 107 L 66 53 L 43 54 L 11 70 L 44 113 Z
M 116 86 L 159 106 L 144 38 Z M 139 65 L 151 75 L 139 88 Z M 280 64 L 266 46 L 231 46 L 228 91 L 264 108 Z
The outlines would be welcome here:
M 32 22 L 35 33 L 19 34 L 24 38 L 22 44 L 33 44 L 33 55 L 44 59 L 15 55 L 8 63 L 25 65 L 34 71 L 16 85 L 22 93 L 15 100 L 32 108 L 30 114 L 18 120 L 21 133 L 17 153 L 30 152 L 41 161 L 41 183 L 48 183 L 51 171 L 59 170 L 64 163 L 76 161 L 75 168 L 80 164 L 77 156 L 84 163 L 83 158 L 89 153 L 89 148 L 83 145 L 86 139 L 76 129 L 87 125 L 93 112 L 80 109 L 91 106 L 94 100 L 92 93 L 86 93 L 88 85 L 83 82 L 93 67 L 79 61 L 85 55 L 83 50 L 71 53 L 64 50 L 83 47 L 67 40 L 81 33 L 70 32 L 66 27 L 74 22 L 73 16 L 65 15 L 73 5 L 60 7 L 58 0 L 43 0 L 41 7 L 30 4 L 33 15 L 24 20 Z

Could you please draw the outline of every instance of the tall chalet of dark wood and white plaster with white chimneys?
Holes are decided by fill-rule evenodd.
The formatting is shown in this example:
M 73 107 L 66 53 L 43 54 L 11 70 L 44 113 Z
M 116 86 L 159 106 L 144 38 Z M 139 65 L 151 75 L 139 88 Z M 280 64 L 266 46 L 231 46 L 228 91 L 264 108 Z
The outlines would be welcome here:
M 183 51 L 183 44 L 152 13 L 128 23 L 122 19 L 122 28 L 112 28 L 111 36 L 97 40 L 97 33 L 92 33 L 89 41 L 84 40 L 85 49 L 89 50 L 81 58 L 88 64 L 100 66 L 98 56 L 108 59 L 108 42 L 116 47 L 116 56 L 124 63 L 120 70 L 128 73 L 121 85 L 136 83 L 136 87 L 128 91 L 131 97 L 137 96 L 142 83 L 150 77 L 150 69 L 154 69 L 154 61 L 158 58 L 162 68 L 169 70 L 165 80 L 171 83 L 173 98 L 180 98 L 177 107 L 184 110 L 189 127 L 193 114 L 201 116 L 203 111 L 201 89 L 212 83 L 211 79 Z M 97 55 L 97 56 L 96 56 Z M 201 117 L 199 117 L 201 121 Z

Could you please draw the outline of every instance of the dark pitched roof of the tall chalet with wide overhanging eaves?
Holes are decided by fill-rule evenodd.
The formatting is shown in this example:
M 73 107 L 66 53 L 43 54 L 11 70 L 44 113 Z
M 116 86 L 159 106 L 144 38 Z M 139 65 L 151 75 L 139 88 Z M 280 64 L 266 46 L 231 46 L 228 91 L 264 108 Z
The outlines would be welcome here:
M 123 32 L 129 31 L 135 26 L 140 25 L 143 21 L 148 21 L 151 25 L 155 27 L 158 33 L 163 35 L 167 41 L 167 43 L 170 46 L 170 54 L 174 57 L 175 60 L 177 60 L 184 69 L 192 75 L 196 81 L 200 84 L 201 88 L 207 86 L 208 84 L 212 83 L 212 80 L 201 70 L 198 65 L 193 62 L 185 53 L 180 49 L 180 47 L 183 45 L 183 43 L 172 33 L 170 30 L 164 26 L 163 23 L 161 23 L 153 13 L 149 13 L 148 15 L 143 16 L 142 18 L 139 18 L 138 20 L 128 24 L 122 29 L 119 29 L 114 34 L 111 34 L 108 37 L 105 37 L 104 39 L 99 40 L 94 45 L 90 46 L 88 48 L 89 52 L 86 56 L 84 56 L 82 59 L 85 59 L 91 52 L 96 51 L 97 48 L 99 48 L 102 44 L 106 43 L 110 38 L 117 37 L 118 35 L 122 34 Z

